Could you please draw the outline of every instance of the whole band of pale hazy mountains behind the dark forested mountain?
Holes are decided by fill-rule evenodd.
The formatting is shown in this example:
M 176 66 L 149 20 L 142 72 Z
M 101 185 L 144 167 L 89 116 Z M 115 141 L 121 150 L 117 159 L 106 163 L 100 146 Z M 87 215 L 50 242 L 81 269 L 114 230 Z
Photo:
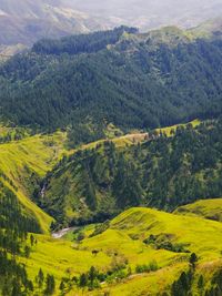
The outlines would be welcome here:
M 137 27 L 191 28 L 220 17 L 221 0 L 0 0 L 0 45 L 30 47 L 42 38 Z

